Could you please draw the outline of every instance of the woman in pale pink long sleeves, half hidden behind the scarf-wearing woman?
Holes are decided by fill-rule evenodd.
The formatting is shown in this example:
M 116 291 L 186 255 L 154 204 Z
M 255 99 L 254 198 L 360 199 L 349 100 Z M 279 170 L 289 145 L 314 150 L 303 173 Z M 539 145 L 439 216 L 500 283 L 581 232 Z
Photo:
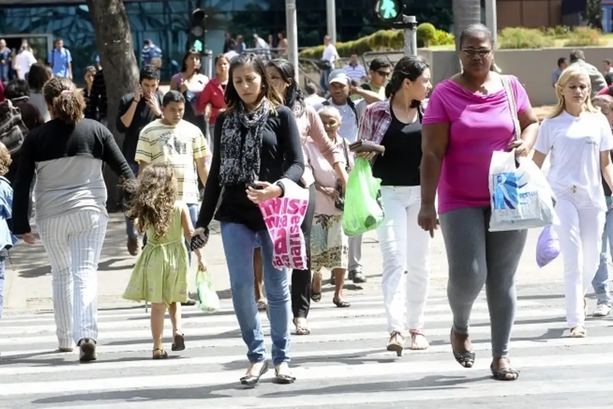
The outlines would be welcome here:
M 303 155 L 305 155 L 305 172 L 302 175 L 302 185 L 309 188 L 309 207 L 307 215 L 302 223 L 302 231 L 307 240 L 307 252 L 310 253 L 310 236 L 311 224 L 313 224 L 313 216 L 315 212 L 315 179 L 313 170 L 307 166 L 306 153 L 304 150 L 307 140 L 313 140 L 321 151 L 322 155 L 330 163 L 330 166 L 337 172 L 337 175 L 343 183 L 347 182 L 347 172 L 345 170 L 345 156 L 328 138 L 324 124 L 321 122 L 319 115 L 313 107 L 304 102 L 302 90 L 295 82 L 294 66 L 286 59 L 273 59 L 268 63 L 267 74 L 270 77 L 270 82 L 281 95 L 284 96 L 285 105 L 291 108 L 294 112 L 294 117 L 298 123 L 300 136 L 302 137 Z M 309 263 L 311 262 L 311 254 L 308 254 Z M 321 278 L 320 278 L 321 280 Z M 319 287 L 321 288 L 321 286 Z M 311 266 L 307 270 L 294 270 L 292 272 L 292 312 L 294 313 L 294 325 L 296 333 L 306 335 L 310 333 L 307 324 L 307 316 L 310 308 L 310 299 L 315 302 L 321 300 L 321 290 L 311 294 Z

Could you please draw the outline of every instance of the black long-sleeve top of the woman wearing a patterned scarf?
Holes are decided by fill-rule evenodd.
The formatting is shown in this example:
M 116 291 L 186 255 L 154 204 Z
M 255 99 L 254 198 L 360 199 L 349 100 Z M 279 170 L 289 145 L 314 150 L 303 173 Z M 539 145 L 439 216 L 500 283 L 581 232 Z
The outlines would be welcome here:
M 289 108 L 277 108 L 278 115 L 270 115 L 262 130 L 262 153 L 260 155 L 261 182 L 275 183 L 281 178 L 287 178 L 299 183 L 304 172 L 302 147 L 298 125 Z M 221 128 L 226 116 L 220 113 L 215 123 L 213 142 L 213 162 L 208 174 L 207 186 L 200 207 L 196 226 L 208 227 L 213 219 L 213 213 L 219 201 L 222 188 L 219 185 L 219 169 L 221 167 Z M 241 130 L 243 139 L 246 129 Z M 215 214 L 215 220 L 241 223 L 253 231 L 266 229 L 264 218 L 256 204 L 247 198 L 246 185 L 224 186 L 221 204 Z

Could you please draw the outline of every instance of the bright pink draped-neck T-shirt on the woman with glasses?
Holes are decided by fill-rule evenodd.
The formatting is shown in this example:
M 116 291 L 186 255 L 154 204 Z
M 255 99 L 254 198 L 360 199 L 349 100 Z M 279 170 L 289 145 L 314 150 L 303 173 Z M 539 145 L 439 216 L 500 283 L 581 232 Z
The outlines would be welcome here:
M 524 87 L 511 76 L 517 113 L 530 109 Z M 514 138 L 504 88 L 473 94 L 451 80 L 436 85 L 422 124 L 449 123 L 449 144 L 438 182 L 438 212 L 490 204 L 489 169 L 493 151 L 506 151 Z

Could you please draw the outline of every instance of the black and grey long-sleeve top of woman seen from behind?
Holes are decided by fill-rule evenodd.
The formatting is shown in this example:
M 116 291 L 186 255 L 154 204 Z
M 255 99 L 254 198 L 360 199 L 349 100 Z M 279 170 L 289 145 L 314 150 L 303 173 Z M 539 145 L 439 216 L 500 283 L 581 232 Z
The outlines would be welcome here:
M 94 120 L 71 125 L 54 119 L 32 129 L 21 145 L 13 184 L 13 234 L 31 231 L 28 201 L 35 170 L 38 220 L 75 210 L 106 213 L 102 162 L 120 177 L 134 178 L 113 134 Z

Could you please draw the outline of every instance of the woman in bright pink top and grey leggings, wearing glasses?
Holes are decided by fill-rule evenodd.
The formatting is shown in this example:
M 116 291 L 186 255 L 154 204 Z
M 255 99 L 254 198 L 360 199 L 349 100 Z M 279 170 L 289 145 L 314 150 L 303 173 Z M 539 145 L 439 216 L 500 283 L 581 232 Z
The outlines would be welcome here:
M 470 25 L 460 36 L 463 71 L 436 85 L 423 123 L 419 225 L 430 235 L 440 219 L 449 262 L 447 297 L 454 316 L 451 346 L 463 367 L 474 364 L 468 337 L 471 308 L 485 285 L 492 326 L 492 375 L 516 380 L 508 345 L 517 294 L 515 273 L 527 231 L 489 232 L 489 166 L 493 151 L 527 155 L 538 120 L 526 91 L 511 77 L 522 137 L 514 141 L 509 101 L 501 76 L 491 71 L 492 32 Z M 438 212 L 435 195 L 438 188 Z

